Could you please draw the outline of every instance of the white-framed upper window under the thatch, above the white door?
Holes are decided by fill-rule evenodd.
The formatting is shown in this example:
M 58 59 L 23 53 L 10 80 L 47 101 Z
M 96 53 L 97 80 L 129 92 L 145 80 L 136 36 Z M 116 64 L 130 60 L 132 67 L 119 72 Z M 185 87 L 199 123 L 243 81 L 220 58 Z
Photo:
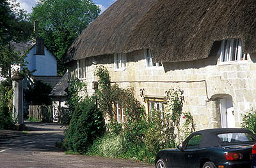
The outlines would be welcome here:
M 240 39 L 226 39 L 221 41 L 221 62 L 247 60 L 247 54 L 242 53 L 242 42 Z

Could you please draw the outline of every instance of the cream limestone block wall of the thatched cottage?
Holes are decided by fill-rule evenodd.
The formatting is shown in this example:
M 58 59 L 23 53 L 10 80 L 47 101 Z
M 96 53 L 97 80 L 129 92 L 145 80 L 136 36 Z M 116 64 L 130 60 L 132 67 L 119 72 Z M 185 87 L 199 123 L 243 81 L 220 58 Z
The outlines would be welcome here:
M 92 81 L 96 66 L 103 64 L 110 72 L 111 81 L 120 87 L 134 87 L 136 98 L 147 107 L 140 96 L 164 97 L 172 87 L 184 90 L 184 111 L 190 111 L 195 118 L 196 129 L 220 126 L 220 97 L 230 95 L 234 106 L 236 127 L 240 127 L 241 114 L 256 108 L 256 55 L 248 60 L 220 64 L 218 55 L 193 62 L 164 63 L 163 67 L 146 67 L 143 50 L 127 55 L 127 68 L 115 71 L 113 55 L 86 59 L 86 83 L 89 94 L 93 93 Z M 94 62 L 94 64 L 92 64 Z M 96 63 L 96 64 L 95 64 Z M 76 74 L 76 69 L 70 68 Z

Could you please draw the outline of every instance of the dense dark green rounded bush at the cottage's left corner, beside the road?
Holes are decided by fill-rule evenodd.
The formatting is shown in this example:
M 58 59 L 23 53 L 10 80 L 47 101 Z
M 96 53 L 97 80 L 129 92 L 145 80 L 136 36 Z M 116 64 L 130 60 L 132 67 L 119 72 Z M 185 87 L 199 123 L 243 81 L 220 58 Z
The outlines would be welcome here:
M 63 146 L 77 153 L 86 153 L 97 137 L 104 133 L 104 117 L 95 100 L 86 97 L 77 103 Z

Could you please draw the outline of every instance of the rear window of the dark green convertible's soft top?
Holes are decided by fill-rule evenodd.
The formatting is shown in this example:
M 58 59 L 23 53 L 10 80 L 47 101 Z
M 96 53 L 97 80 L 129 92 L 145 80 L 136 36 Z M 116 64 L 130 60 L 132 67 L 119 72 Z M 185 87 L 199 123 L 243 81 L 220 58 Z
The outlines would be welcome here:
M 245 132 L 218 134 L 218 137 L 221 143 L 246 143 L 255 141 L 255 138 L 251 134 Z

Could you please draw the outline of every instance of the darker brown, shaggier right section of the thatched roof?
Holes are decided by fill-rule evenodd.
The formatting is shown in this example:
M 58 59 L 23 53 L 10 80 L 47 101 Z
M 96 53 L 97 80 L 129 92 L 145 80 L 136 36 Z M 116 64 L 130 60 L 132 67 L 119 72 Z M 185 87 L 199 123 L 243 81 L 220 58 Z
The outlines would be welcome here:
M 255 53 L 255 35 L 255 0 L 159 0 L 136 25 L 125 52 L 151 48 L 157 61 L 190 61 L 208 57 L 214 41 L 241 38 L 243 53 Z

